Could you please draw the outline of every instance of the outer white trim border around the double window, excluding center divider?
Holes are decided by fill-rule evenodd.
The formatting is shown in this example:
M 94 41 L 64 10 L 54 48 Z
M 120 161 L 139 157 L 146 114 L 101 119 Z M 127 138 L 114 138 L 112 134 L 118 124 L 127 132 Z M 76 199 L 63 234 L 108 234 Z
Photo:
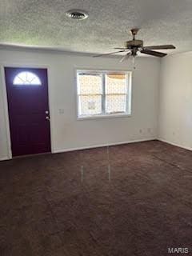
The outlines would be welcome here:
M 113 74 L 113 73 L 117 73 L 118 74 L 128 74 L 128 87 L 127 90 L 129 93 L 127 93 L 127 110 L 125 113 L 119 113 L 119 114 L 95 114 L 95 115 L 82 115 L 79 116 L 78 115 L 78 107 L 79 107 L 79 99 L 78 99 L 78 72 L 82 72 L 82 73 L 87 73 L 87 74 Z M 132 72 L 129 70 L 100 70 L 100 69 L 75 69 L 75 86 L 76 86 L 76 113 L 77 113 L 77 120 L 81 121 L 81 120 L 90 120 L 90 119 L 102 119 L 102 118 L 128 118 L 132 116 Z M 130 113 L 128 113 L 128 111 Z

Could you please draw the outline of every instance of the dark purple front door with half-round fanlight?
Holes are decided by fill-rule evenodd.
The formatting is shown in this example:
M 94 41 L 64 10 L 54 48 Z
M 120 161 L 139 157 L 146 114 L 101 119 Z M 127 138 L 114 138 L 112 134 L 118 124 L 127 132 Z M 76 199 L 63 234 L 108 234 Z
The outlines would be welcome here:
M 50 152 L 47 70 L 5 68 L 13 156 Z

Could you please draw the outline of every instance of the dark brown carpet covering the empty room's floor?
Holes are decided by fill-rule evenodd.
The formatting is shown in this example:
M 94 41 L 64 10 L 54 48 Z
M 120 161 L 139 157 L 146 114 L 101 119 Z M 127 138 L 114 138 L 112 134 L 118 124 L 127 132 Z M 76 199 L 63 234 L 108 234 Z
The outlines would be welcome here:
M 188 150 L 151 141 L 17 158 L 0 162 L 0 186 L 1 256 L 192 252 Z

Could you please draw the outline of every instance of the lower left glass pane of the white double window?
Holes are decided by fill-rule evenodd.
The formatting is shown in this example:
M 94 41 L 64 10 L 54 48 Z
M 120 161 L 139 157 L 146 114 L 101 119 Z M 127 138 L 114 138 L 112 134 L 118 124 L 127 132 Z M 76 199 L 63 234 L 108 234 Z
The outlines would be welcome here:
M 102 114 L 102 95 L 79 96 L 79 115 Z

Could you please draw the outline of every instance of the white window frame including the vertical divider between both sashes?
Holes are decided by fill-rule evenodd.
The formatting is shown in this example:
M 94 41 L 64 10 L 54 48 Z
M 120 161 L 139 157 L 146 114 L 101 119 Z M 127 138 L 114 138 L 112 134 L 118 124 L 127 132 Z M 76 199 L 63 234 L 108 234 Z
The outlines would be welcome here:
M 93 114 L 93 115 L 79 115 L 79 94 L 78 94 L 78 73 L 85 74 L 102 74 L 102 114 Z M 106 105 L 106 83 L 105 75 L 106 74 L 126 74 L 127 75 L 127 94 L 126 94 L 126 112 L 124 113 L 112 113 L 107 114 L 105 112 Z M 130 117 L 132 112 L 132 71 L 130 70 L 99 70 L 99 69 L 75 69 L 75 86 L 76 86 L 76 112 L 78 120 L 86 119 L 99 119 L 99 118 L 124 118 Z

